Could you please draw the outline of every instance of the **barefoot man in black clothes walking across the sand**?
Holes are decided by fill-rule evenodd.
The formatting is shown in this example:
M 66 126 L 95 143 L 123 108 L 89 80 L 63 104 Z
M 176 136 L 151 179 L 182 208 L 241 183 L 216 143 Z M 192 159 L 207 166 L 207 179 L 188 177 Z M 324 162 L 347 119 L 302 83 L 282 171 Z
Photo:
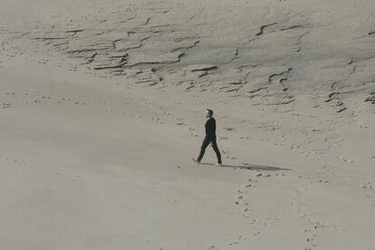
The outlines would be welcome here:
M 203 158 L 203 155 L 205 154 L 207 146 L 211 143 L 212 148 L 214 149 L 216 153 L 216 157 L 217 157 L 216 166 L 221 167 L 222 166 L 221 155 L 216 144 L 216 120 L 215 118 L 212 117 L 213 115 L 214 115 L 214 111 L 209 110 L 209 109 L 206 110 L 206 118 L 208 118 L 206 121 L 206 125 L 205 125 L 206 137 L 205 139 L 203 139 L 198 158 L 197 159 L 193 158 L 193 160 L 196 161 L 197 163 L 200 163 L 200 160 Z

